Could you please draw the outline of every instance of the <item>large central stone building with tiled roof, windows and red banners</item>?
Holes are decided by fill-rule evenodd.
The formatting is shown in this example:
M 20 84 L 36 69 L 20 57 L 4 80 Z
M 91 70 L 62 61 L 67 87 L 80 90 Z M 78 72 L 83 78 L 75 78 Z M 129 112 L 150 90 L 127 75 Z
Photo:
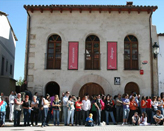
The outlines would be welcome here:
M 151 24 L 157 6 L 128 2 L 24 8 L 28 14 L 25 79 L 33 93 L 158 94 L 152 49 L 158 38 Z

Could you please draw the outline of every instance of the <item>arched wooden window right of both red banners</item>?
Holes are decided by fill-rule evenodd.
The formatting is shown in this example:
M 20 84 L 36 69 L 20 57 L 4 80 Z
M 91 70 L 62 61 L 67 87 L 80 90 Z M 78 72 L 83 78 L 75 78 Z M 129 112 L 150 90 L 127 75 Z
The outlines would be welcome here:
M 124 69 L 138 70 L 138 40 L 133 35 L 124 39 Z

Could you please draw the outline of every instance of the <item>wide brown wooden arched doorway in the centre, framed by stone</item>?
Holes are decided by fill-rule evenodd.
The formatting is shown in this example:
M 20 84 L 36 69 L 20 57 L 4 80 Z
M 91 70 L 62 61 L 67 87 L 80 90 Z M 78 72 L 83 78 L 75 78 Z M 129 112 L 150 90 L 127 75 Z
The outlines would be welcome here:
M 79 96 L 83 98 L 86 93 L 89 94 L 89 96 L 104 94 L 104 89 L 99 84 L 87 83 L 81 87 Z

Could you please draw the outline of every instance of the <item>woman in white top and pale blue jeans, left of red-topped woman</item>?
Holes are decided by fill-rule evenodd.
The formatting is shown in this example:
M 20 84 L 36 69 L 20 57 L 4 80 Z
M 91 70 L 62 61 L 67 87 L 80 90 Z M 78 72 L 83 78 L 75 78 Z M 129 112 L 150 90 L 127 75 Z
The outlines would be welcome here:
M 69 125 L 70 117 L 71 117 L 71 124 L 73 126 L 75 107 L 74 107 L 74 102 L 72 101 L 72 96 L 69 96 L 69 99 L 68 99 L 68 102 L 67 102 L 67 107 L 68 107 L 67 125 Z

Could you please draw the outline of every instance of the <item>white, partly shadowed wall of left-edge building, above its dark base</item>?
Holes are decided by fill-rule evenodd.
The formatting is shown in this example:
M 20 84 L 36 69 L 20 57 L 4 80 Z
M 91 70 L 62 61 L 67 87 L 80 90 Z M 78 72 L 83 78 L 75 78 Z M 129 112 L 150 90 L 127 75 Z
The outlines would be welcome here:
M 2 57 L 5 58 L 4 76 L 13 78 L 15 60 L 16 41 L 8 23 L 7 17 L 0 14 L 0 63 Z M 8 71 L 6 72 L 6 61 L 8 61 Z M 10 64 L 12 65 L 12 75 L 10 74 Z M 0 64 L 1 75 L 1 64 Z

